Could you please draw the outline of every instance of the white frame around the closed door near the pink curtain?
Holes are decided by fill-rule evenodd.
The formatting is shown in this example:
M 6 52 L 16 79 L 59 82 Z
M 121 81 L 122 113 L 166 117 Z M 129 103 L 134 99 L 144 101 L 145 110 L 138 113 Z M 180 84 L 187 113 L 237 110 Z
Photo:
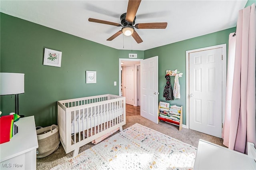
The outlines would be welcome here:
M 189 128 L 189 53 L 199 52 L 209 49 L 216 49 L 222 48 L 222 125 L 224 123 L 225 117 L 225 103 L 226 103 L 226 68 L 227 68 L 227 50 L 226 50 L 226 43 L 220 45 L 214 45 L 210 47 L 204 47 L 199 49 L 192 49 L 186 51 L 186 128 Z

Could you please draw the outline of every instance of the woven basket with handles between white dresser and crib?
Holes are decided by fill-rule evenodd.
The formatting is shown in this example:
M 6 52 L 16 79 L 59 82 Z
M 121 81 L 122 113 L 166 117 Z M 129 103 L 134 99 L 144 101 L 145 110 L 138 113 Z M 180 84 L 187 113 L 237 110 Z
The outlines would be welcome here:
M 57 125 L 37 128 L 39 129 L 36 130 L 38 140 L 36 158 L 44 158 L 58 149 L 60 144 L 59 130 Z

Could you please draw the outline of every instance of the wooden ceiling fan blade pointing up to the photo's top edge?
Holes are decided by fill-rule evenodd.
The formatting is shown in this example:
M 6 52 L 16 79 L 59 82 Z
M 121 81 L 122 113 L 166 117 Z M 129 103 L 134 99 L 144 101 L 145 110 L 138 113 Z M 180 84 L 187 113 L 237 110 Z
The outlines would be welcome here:
M 140 2 L 141 0 L 129 0 L 127 12 L 126 12 L 126 18 L 125 18 L 127 22 L 133 22 L 136 16 L 137 10 L 140 6 Z

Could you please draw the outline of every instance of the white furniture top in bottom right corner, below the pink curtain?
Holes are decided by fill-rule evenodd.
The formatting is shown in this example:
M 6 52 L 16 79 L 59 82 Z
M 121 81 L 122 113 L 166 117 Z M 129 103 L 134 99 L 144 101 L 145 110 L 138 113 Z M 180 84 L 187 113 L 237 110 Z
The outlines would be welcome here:
M 256 170 L 255 148 L 248 150 L 251 156 L 200 139 L 193 170 Z

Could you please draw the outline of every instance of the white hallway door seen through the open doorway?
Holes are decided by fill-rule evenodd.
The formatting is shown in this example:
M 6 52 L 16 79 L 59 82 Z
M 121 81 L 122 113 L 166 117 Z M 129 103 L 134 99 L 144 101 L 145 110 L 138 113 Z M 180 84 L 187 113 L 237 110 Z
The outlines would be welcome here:
M 124 96 L 126 104 L 134 105 L 134 66 L 124 67 Z

